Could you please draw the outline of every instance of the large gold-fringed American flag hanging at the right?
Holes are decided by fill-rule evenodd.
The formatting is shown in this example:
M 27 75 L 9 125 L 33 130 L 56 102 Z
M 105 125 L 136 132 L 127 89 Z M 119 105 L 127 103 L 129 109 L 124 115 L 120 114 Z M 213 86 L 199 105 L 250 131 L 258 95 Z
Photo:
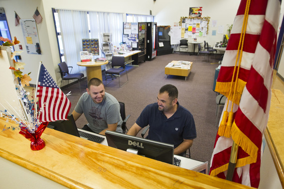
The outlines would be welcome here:
M 223 109 L 233 112 L 233 124 L 219 124 L 214 151 L 211 158 L 210 175 L 226 178 L 231 147 L 235 142 L 238 148 L 236 168 L 233 181 L 258 188 L 260 182 L 260 165 L 262 156 L 263 133 L 267 126 L 271 100 L 273 63 L 277 43 L 277 28 L 280 17 L 281 0 L 251 0 L 247 20 L 241 66 L 238 72 L 237 87 L 234 66 L 246 4 L 241 0 L 231 36 L 227 45 L 216 83 L 216 92 L 224 94 L 227 102 Z M 238 54 L 240 57 L 240 54 Z M 238 64 L 237 64 L 238 66 Z M 230 83 L 234 76 L 233 88 Z M 229 91 L 235 90 L 233 97 Z M 227 106 L 228 104 L 228 106 Z M 229 136 L 226 136 L 227 129 Z

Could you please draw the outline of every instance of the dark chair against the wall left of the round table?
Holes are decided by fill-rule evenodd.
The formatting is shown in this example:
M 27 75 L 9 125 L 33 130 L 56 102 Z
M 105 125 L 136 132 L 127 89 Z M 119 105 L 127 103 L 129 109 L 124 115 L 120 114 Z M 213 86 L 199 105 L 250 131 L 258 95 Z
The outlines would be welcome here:
M 60 75 L 61 75 L 61 84 L 60 87 L 62 86 L 62 81 L 63 80 L 68 80 L 68 84 L 69 84 L 69 80 L 78 80 L 79 83 L 79 89 L 80 89 L 80 94 L 81 94 L 81 86 L 80 86 L 80 80 L 82 78 L 84 78 L 84 74 L 79 73 L 79 74 L 70 74 L 73 67 L 72 66 L 67 66 L 66 62 L 60 62 L 58 64 L 59 70 L 60 70 Z M 71 71 L 69 73 L 69 68 L 71 68 Z

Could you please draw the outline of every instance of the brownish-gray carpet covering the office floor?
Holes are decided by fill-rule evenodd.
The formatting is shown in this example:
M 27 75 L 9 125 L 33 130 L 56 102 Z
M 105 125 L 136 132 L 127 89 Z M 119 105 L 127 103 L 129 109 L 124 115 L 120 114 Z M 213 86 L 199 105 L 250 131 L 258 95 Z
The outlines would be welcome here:
M 217 132 L 217 127 L 215 127 L 216 94 L 212 88 L 215 69 L 219 65 L 211 63 L 218 62 L 218 55 L 217 59 L 215 56 L 210 56 L 208 62 L 202 55 L 198 57 L 197 61 L 196 57 L 185 53 L 157 56 L 152 61 L 139 63 L 139 67 L 127 67 L 129 83 L 124 87 L 119 88 L 119 81 L 115 79 L 105 87 L 105 90 L 114 95 L 118 101 L 125 102 L 126 114 L 131 114 L 127 122 L 127 127 L 130 128 L 139 117 L 142 109 L 147 104 L 157 101 L 156 96 L 160 87 L 165 84 L 176 86 L 179 91 L 180 105 L 193 114 L 196 124 L 197 138 L 194 139 L 190 148 L 191 158 L 210 163 Z M 186 81 L 184 77 L 179 76 L 165 78 L 164 67 L 172 60 L 193 62 L 192 70 Z M 125 82 L 126 74 L 123 74 L 120 79 L 121 82 Z M 81 82 L 81 86 L 86 88 L 86 80 Z M 80 97 L 79 89 L 76 87 L 78 84 L 62 90 L 65 94 L 69 91 L 74 94 L 68 96 L 72 104 L 70 112 L 73 111 Z M 83 91 L 86 90 L 82 90 L 82 93 Z M 83 115 L 76 121 L 78 128 L 82 128 L 86 123 Z M 138 136 L 141 137 L 141 134 L 139 133 Z

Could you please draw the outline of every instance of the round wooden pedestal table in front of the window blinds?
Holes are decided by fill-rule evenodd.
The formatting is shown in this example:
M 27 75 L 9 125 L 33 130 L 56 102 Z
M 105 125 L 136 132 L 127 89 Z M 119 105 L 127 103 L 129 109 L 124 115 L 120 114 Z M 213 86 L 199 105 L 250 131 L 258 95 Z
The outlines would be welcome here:
M 87 80 L 92 78 L 99 78 L 103 81 L 101 66 L 108 64 L 109 61 L 105 62 L 77 62 L 78 66 L 85 66 L 87 71 Z

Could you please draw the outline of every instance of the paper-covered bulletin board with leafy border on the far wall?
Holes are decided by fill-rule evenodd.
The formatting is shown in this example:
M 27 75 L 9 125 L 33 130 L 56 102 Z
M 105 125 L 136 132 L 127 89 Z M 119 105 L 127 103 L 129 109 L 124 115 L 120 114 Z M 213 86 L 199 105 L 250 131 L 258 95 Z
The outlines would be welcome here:
M 208 34 L 210 17 L 180 17 L 179 25 L 181 26 L 182 38 L 205 37 Z

